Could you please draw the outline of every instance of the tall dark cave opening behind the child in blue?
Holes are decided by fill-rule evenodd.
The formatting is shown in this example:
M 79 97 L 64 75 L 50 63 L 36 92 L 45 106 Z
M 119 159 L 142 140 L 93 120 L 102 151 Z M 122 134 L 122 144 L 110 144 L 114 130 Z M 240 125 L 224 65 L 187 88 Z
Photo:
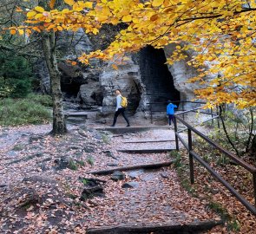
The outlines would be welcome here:
M 165 62 L 167 59 L 163 49 L 154 49 L 151 46 L 141 49 L 141 81 L 146 87 L 147 100 L 155 103 L 159 111 L 165 110 L 168 100 L 180 101 L 181 98 L 180 92 L 174 88 L 173 76 Z

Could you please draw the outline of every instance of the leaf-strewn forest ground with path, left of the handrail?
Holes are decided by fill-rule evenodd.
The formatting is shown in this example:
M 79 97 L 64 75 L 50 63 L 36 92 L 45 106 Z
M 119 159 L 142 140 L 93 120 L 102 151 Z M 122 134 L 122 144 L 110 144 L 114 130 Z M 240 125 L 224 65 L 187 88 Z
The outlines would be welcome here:
M 80 125 L 69 126 L 62 137 L 49 131 L 49 125 L 0 128 L 1 233 L 85 233 L 123 224 L 220 221 L 206 198 L 192 196 L 181 186 L 174 166 L 123 172 L 121 180 L 89 173 L 172 160 L 170 153 L 118 152 L 141 148 L 123 141 L 174 140 L 172 129 L 115 135 Z M 174 142 L 147 144 L 143 147 L 174 147 Z M 91 178 L 100 179 L 102 190 L 95 197 L 85 189 Z M 253 233 L 255 219 L 248 212 L 246 218 L 246 232 L 240 224 L 240 233 Z M 208 233 L 232 231 L 222 226 Z

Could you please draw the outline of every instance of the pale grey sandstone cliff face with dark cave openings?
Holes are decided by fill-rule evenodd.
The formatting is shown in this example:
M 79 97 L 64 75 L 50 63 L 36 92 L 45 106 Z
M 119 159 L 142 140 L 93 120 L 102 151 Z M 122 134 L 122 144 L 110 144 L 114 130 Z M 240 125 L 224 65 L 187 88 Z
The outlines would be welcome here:
M 82 30 L 74 36 L 65 33 L 58 44 L 58 49 L 65 52 L 63 57 L 67 60 L 95 49 Z M 113 114 L 117 88 L 128 97 L 129 114 L 146 113 L 152 107 L 164 111 L 167 100 L 190 101 L 197 87 L 187 83 L 187 79 L 196 75 L 196 71 L 183 61 L 174 62 L 172 66 L 164 64 L 173 51 L 174 45 L 165 49 L 141 49 L 136 55 L 128 55 L 128 61 L 119 65 L 117 70 L 111 62 L 94 62 L 90 66 L 71 66 L 60 62 L 63 99 L 79 104 L 77 107 L 101 107 L 103 115 Z M 49 75 L 45 64 L 39 63 L 36 69 L 42 81 L 42 90 L 49 93 Z

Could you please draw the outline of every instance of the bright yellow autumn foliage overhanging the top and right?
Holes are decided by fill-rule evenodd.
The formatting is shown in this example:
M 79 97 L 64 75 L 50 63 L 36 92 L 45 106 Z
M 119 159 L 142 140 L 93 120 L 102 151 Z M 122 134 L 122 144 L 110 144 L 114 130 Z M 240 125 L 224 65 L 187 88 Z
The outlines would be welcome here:
M 97 34 L 105 23 L 126 23 L 107 49 L 82 55 L 80 62 L 92 58 L 118 64 L 127 52 L 152 45 L 164 48 L 176 44 L 167 63 L 186 60 L 198 68 L 191 79 L 204 88 L 195 90 L 207 107 L 233 103 L 236 107 L 256 106 L 256 3 L 233 0 L 64 0 L 66 7 L 50 10 L 42 6 L 27 12 L 22 27 L 10 33 L 30 35 L 33 31 L 57 32 L 84 29 Z M 21 9 L 19 9 L 21 10 Z M 188 60 L 186 51 L 194 51 Z M 117 68 L 114 65 L 114 68 Z

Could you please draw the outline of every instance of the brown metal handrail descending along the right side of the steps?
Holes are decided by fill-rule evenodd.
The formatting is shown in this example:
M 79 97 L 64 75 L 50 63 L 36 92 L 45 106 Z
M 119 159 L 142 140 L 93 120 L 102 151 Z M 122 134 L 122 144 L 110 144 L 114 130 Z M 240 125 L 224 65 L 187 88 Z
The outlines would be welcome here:
M 174 131 L 175 131 L 175 143 L 176 143 L 176 150 L 179 151 L 179 140 L 181 140 L 181 143 L 185 148 L 187 149 L 188 155 L 189 155 L 189 168 L 190 168 L 190 180 L 191 184 L 194 184 L 194 160 L 196 159 L 202 166 L 204 166 L 208 172 L 211 172 L 213 177 L 218 179 L 222 185 L 224 185 L 240 202 L 246 206 L 246 208 L 251 211 L 254 215 L 256 215 L 256 167 L 249 165 L 244 160 L 238 158 L 233 153 L 227 151 L 225 148 L 220 146 L 219 144 L 215 143 L 213 140 L 209 139 L 205 134 L 200 133 L 197 129 L 192 127 L 190 124 L 188 124 L 185 120 L 183 120 L 180 116 L 180 114 L 189 113 L 191 111 L 195 111 L 201 107 L 194 108 L 192 110 L 188 110 L 185 112 L 181 112 L 179 114 L 174 114 Z M 214 117 L 216 118 L 216 116 Z M 182 139 L 181 135 L 178 132 L 177 127 L 177 120 L 181 121 L 183 125 L 187 127 L 187 140 L 188 144 L 185 142 L 185 140 Z M 214 148 L 218 149 L 221 153 L 226 154 L 230 159 L 233 159 L 239 166 L 244 167 L 248 172 L 251 172 L 253 174 L 253 191 L 254 191 L 254 206 L 249 203 L 246 198 L 244 198 L 242 195 L 240 195 L 239 192 L 237 192 L 232 185 L 228 184 L 225 179 L 223 179 L 218 172 L 215 172 L 211 166 L 207 164 L 204 159 L 201 159 L 200 156 L 193 151 L 192 146 L 192 134 L 191 132 L 194 132 L 200 138 L 203 140 L 206 140 L 210 145 L 212 145 Z

